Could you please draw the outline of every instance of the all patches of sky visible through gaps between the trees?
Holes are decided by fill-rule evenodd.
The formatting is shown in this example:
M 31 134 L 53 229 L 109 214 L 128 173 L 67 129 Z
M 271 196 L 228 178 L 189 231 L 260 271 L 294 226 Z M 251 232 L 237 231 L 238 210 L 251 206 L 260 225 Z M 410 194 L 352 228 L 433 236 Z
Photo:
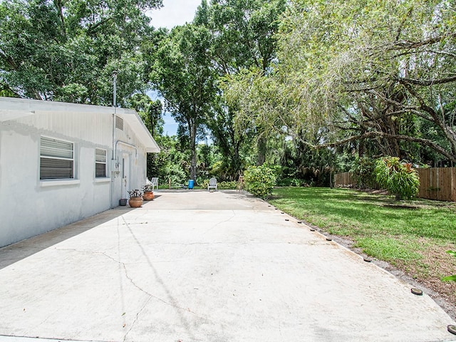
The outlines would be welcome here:
M 190 23 L 195 16 L 197 7 L 201 0 L 163 0 L 163 7 L 154 11 L 149 11 L 148 16 L 152 18 L 152 26 L 155 28 L 166 27 L 173 28 L 177 25 Z M 147 93 L 152 100 L 157 98 L 156 92 Z M 163 115 L 165 125 L 163 131 L 165 135 L 175 135 L 177 132 L 177 123 L 169 113 Z

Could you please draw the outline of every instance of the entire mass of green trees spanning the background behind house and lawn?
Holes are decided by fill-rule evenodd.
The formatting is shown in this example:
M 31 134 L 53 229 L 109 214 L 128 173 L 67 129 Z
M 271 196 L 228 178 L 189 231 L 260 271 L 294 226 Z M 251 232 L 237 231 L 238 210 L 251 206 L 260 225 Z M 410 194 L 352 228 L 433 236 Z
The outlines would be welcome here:
M 0 0 L 0 95 L 110 105 L 118 71 L 118 103 L 138 110 L 166 158 L 179 150 L 179 167 L 155 158 L 176 179 L 200 167 L 235 180 L 269 163 L 321 185 L 385 155 L 453 165 L 455 5 L 202 0 L 168 31 L 146 15 L 161 0 Z M 176 139 L 160 137 L 163 109 Z M 214 146 L 198 147 L 208 135 Z

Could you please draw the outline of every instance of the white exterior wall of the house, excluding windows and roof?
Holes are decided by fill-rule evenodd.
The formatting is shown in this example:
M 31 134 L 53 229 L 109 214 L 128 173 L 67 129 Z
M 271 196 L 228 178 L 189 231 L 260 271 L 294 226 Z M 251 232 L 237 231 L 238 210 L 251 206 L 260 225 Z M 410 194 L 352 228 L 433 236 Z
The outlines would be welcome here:
M 113 108 L 80 113 L 76 107 L 34 113 L 28 108 L 21 118 L 0 121 L 0 247 L 118 205 L 126 189 L 122 172 L 110 170 Z M 73 142 L 74 180 L 40 180 L 41 136 Z M 115 129 L 115 146 L 120 162 L 123 155 L 130 162 L 125 165 L 130 170 L 128 190 L 140 189 L 146 149 L 126 121 L 123 130 Z M 95 148 L 107 151 L 105 178 L 95 177 Z

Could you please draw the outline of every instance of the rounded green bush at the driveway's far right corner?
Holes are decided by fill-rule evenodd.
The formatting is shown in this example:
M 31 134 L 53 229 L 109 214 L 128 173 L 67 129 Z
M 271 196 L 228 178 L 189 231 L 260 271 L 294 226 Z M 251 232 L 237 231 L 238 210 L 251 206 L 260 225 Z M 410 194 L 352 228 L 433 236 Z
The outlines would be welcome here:
M 245 190 L 252 195 L 266 199 L 276 184 L 276 175 L 266 165 L 251 166 L 244 172 Z

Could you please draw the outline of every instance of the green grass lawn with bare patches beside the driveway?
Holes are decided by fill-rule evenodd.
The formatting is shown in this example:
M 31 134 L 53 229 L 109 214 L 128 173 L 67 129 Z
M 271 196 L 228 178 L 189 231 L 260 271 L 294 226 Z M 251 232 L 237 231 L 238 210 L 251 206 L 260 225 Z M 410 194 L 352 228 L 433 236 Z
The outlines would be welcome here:
M 389 195 L 318 187 L 277 187 L 268 202 L 388 262 L 455 310 L 456 282 L 440 280 L 456 273 L 456 258 L 445 253 L 456 250 L 455 202 L 396 202 Z

